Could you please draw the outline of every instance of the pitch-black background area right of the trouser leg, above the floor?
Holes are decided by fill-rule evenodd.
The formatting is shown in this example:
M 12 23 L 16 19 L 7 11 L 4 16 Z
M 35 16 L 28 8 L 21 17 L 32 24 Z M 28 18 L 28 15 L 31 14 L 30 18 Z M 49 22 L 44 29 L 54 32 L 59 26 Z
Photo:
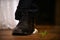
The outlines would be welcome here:
M 55 24 L 55 0 L 40 0 L 39 13 L 37 13 L 36 24 Z

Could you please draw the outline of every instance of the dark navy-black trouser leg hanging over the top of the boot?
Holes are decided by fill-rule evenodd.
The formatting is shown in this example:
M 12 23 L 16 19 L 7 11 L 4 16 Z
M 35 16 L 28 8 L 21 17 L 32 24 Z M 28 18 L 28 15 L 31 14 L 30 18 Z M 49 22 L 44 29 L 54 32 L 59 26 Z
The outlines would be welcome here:
M 36 0 L 20 0 L 15 13 L 15 19 L 20 20 L 22 12 L 28 12 L 34 15 L 38 11 Z

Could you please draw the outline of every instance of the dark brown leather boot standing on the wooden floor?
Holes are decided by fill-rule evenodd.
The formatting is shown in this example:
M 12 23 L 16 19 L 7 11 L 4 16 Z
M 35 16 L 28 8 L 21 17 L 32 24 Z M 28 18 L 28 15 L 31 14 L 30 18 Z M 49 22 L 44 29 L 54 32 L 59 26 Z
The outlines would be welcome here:
M 34 15 L 32 13 L 22 13 L 22 18 L 13 31 L 13 35 L 29 35 L 34 31 Z

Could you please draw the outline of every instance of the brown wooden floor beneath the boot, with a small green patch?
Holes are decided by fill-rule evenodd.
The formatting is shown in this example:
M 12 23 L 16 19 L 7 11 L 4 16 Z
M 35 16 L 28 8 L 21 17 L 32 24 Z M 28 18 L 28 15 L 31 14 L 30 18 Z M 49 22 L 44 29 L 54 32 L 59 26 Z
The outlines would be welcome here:
M 60 26 L 36 26 L 38 33 L 29 36 L 13 36 L 12 30 L 0 30 L 0 40 L 60 40 Z

